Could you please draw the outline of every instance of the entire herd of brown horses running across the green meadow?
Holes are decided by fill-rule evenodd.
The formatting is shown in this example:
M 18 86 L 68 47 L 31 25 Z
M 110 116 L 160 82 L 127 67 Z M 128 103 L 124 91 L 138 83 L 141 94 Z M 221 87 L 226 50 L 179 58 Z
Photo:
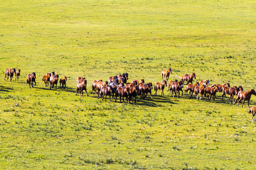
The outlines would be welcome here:
M 172 73 L 171 68 L 168 68 L 167 70 L 165 69 L 162 70 L 162 73 L 161 73 L 162 83 L 155 83 L 155 86 L 154 86 L 155 95 L 157 95 L 157 90 L 161 90 L 161 96 L 164 95 L 164 89 L 165 87 L 167 87 L 167 81 L 171 73 Z M 9 79 L 10 77 L 10 82 L 11 82 L 14 74 L 15 74 L 15 80 L 16 79 L 18 80 L 20 76 L 20 69 L 16 70 L 15 68 L 12 68 L 12 69 L 7 68 L 5 70 L 4 79 L 6 78 L 6 76 L 7 76 L 7 79 Z M 50 89 L 54 88 L 54 85 L 55 85 L 55 90 L 57 90 L 58 78 L 59 78 L 59 75 L 55 75 L 55 72 L 53 71 L 51 73 L 46 73 L 46 75 L 43 76 L 42 80 L 44 81 L 46 87 L 50 83 Z M 196 79 L 195 73 L 184 74 L 180 81 L 171 80 L 168 83 L 167 92 L 172 91 L 173 97 L 174 97 L 174 94 L 175 94 L 175 97 L 180 97 L 180 92 L 182 92 L 182 96 L 183 96 L 184 82 L 186 82 L 186 87 L 184 91 L 186 92 L 186 96 L 188 96 L 188 93 L 189 93 L 190 99 L 192 98 L 194 93 L 194 96 L 196 97 L 197 101 L 199 99 L 205 99 L 210 101 L 211 98 L 212 100 L 215 100 L 216 93 L 220 92 L 222 93 L 221 100 L 223 100 L 224 96 L 226 99 L 226 94 L 227 94 L 229 95 L 229 101 L 231 103 L 235 104 L 236 102 L 238 102 L 237 104 L 238 106 L 239 102 L 242 102 L 242 107 L 243 107 L 244 102 L 247 101 L 248 108 L 249 108 L 251 95 L 252 94 L 256 95 L 256 92 L 254 89 L 250 89 L 245 92 L 243 91 L 243 87 L 241 85 L 232 86 L 232 87 L 230 87 L 229 83 L 225 83 L 223 85 L 221 84 L 210 85 L 209 79 L 201 80 L 200 82 L 196 82 L 195 84 L 193 84 L 193 79 Z M 60 88 L 65 89 L 66 81 L 67 81 L 66 76 L 60 79 L 59 81 Z M 29 84 L 30 88 L 31 86 L 32 88 L 34 87 L 33 82 L 36 85 L 35 72 L 27 75 L 27 83 Z M 80 96 L 83 97 L 83 91 L 85 91 L 86 96 L 88 96 L 86 87 L 87 87 L 87 80 L 85 79 L 85 77 L 78 77 L 75 95 L 77 95 L 77 93 L 79 92 Z M 119 97 L 120 102 L 124 102 L 124 97 L 125 97 L 128 103 L 130 103 L 131 101 L 136 103 L 137 95 L 140 95 L 141 99 L 146 99 L 147 94 L 150 94 L 150 97 L 153 98 L 151 94 L 151 90 L 153 90 L 153 85 L 151 82 L 145 83 L 144 79 L 141 79 L 141 80 L 134 79 L 131 83 L 129 83 L 128 73 L 124 73 L 119 76 L 117 75 L 110 76 L 108 78 L 108 81 L 102 81 L 102 79 L 94 80 L 92 82 L 91 94 L 94 91 L 95 94 L 98 95 L 98 99 L 101 97 L 103 100 L 105 97 L 105 101 L 107 101 L 107 96 L 109 96 L 110 101 L 111 101 L 111 97 L 112 99 L 115 98 L 115 101 L 117 101 L 117 98 Z M 234 96 L 236 96 L 236 100 L 234 100 Z M 255 121 L 254 115 L 256 113 L 256 107 L 253 106 L 252 108 L 249 108 L 249 109 L 250 110 L 248 111 L 248 113 L 253 114 L 253 121 Z

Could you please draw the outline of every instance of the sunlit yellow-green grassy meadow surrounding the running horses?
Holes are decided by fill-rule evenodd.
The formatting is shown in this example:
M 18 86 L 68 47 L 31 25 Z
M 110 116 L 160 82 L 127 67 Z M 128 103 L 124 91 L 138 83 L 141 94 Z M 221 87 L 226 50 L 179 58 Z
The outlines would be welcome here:
M 0 169 L 255 170 L 256 123 L 241 108 L 170 92 L 101 101 L 93 80 L 196 81 L 256 89 L 255 0 L 1 0 Z M 4 79 L 21 69 L 19 81 Z M 67 76 L 50 90 L 42 77 Z M 27 74 L 36 72 L 29 89 Z M 75 95 L 86 77 L 89 96 Z M 193 81 L 195 82 L 195 80 Z M 152 94 L 155 93 L 154 89 Z M 252 95 L 250 107 L 256 105 Z

